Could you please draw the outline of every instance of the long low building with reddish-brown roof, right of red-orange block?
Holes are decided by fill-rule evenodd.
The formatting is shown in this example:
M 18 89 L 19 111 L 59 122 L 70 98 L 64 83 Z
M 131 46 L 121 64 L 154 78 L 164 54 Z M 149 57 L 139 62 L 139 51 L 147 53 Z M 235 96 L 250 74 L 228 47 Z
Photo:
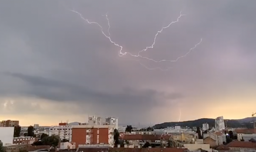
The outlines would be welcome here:
M 133 145 L 135 148 L 143 147 L 146 142 L 155 147 L 166 147 L 171 135 L 128 135 L 123 134 L 120 137 L 125 145 Z

